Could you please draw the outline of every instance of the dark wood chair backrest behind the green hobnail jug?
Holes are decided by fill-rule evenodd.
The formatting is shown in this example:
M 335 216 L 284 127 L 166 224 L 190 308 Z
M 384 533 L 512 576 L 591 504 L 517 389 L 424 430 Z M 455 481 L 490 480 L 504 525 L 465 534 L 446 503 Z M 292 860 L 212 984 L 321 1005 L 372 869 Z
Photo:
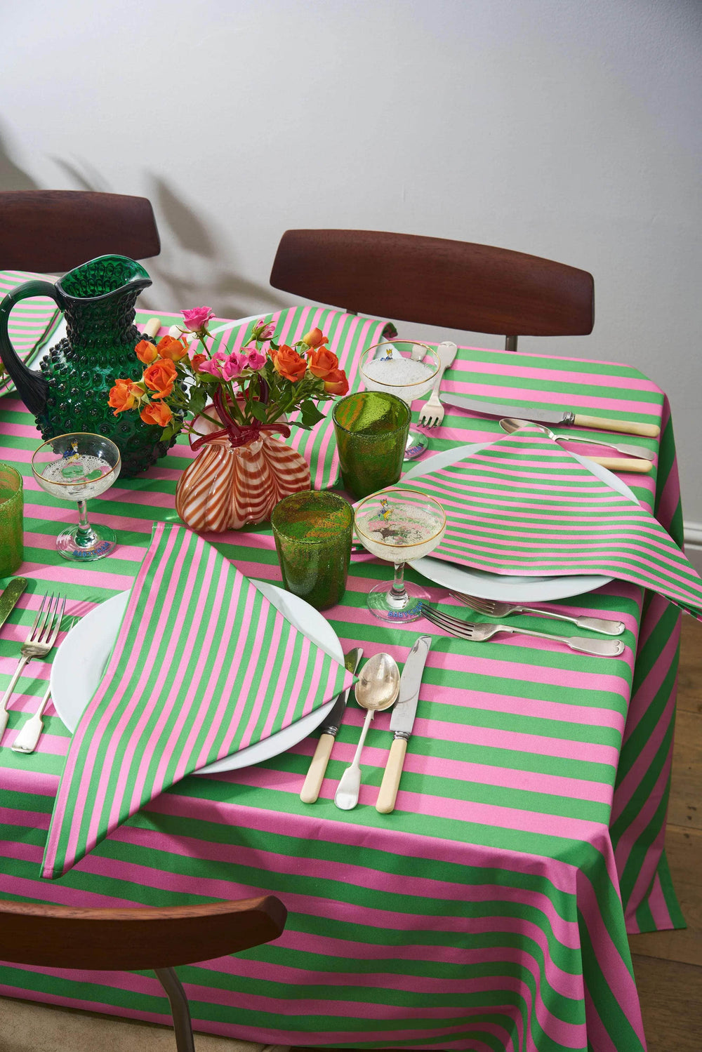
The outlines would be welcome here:
M 83 190 L 0 193 L 0 270 L 64 274 L 98 256 L 158 256 L 146 198 Z

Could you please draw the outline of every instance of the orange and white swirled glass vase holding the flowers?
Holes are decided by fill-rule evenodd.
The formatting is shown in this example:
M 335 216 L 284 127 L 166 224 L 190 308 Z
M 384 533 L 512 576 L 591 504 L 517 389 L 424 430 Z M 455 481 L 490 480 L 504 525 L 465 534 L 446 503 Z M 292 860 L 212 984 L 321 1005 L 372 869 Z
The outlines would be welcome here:
M 312 488 L 304 457 L 268 430 L 246 429 L 254 433 L 241 441 L 203 418 L 197 429 L 207 440 L 176 486 L 176 510 L 190 529 L 221 533 L 267 522 L 283 497 Z

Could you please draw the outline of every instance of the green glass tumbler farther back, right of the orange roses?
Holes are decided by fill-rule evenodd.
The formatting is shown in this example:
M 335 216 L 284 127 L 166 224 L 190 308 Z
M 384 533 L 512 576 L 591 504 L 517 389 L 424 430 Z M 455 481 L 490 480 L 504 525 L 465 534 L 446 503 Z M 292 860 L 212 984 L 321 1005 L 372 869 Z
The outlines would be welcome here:
M 409 406 L 386 391 L 359 391 L 335 403 L 341 479 L 357 500 L 392 486 L 402 473 Z

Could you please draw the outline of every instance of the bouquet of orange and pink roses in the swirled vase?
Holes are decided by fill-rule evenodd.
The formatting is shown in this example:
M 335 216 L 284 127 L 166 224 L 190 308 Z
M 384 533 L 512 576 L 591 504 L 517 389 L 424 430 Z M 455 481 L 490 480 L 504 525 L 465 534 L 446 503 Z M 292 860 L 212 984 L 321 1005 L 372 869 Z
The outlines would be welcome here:
M 181 313 L 183 335 L 164 336 L 157 344 L 138 343 L 135 353 L 144 365 L 141 380 L 116 380 L 109 391 L 115 416 L 136 410 L 144 423 L 163 428 L 164 440 L 180 431 L 186 417 L 190 432 L 200 436 L 192 441 L 194 449 L 224 433 L 234 445 L 258 437 L 261 430 L 287 436 L 289 428 L 280 423 L 281 418 L 299 412 L 296 426 L 312 428 L 323 418 L 318 403 L 348 390 L 346 375 L 319 328 L 288 346 L 276 343 L 275 325 L 260 319 L 240 350 L 210 355 L 207 323 L 214 311 L 196 307 Z M 192 336 L 188 340 L 186 333 L 194 333 L 197 341 Z M 218 430 L 197 431 L 198 418 Z

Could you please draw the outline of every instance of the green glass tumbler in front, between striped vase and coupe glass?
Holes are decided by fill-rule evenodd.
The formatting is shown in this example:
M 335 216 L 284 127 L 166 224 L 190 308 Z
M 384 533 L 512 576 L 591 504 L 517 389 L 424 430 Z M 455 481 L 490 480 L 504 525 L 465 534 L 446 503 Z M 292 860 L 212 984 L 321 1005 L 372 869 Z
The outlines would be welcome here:
M 336 493 L 305 489 L 283 498 L 270 515 L 283 587 L 317 610 L 346 591 L 354 512 Z

